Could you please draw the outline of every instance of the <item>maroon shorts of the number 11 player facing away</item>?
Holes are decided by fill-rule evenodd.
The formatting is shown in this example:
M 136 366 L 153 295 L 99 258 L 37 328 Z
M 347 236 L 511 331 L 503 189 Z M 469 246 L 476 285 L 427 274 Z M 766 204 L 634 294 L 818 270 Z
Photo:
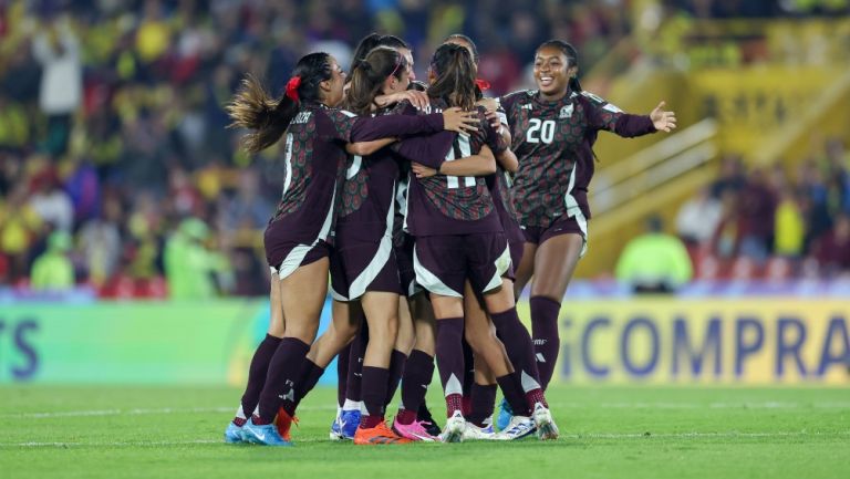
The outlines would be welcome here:
M 468 279 L 486 293 L 512 277 L 508 241 L 501 232 L 416 238 L 416 282 L 434 294 L 462 298 Z

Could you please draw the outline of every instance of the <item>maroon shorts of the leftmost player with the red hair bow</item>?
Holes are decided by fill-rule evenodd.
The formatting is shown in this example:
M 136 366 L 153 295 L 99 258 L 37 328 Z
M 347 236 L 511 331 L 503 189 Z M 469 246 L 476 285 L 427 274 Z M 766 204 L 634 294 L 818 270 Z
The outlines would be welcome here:
M 301 244 L 287 238 L 286 227 L 281 222 L 272 222 L 266 228 L 263 246 L 266 262 L 271 273 L 278 274 L 281 280 L 292 274 L 299 267 L 331 256 L 331 248 L 324 240 L 317 240 L 313 244 Z

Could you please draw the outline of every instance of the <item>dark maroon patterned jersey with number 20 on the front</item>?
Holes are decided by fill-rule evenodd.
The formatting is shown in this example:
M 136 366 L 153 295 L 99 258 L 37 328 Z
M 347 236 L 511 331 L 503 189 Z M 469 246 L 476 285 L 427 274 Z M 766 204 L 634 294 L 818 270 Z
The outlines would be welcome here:
M 592 93 L 570 92 L 547 102 L 538 92 L 500 98 L 519 159 L 515 206 L 524 227 L 548 228 L 564 214 L 590 218 L 588 185 L 593 177 L 593 143 L 600 129 L 631 137 L 655 132 L 645 115 L 623 113 Z

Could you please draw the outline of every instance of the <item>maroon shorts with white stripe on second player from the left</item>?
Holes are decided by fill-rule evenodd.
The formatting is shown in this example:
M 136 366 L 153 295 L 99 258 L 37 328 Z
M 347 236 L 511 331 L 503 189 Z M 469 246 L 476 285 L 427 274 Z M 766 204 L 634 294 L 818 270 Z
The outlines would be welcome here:
M 398 263 L 390 242 L 360 243 L 331 253 L 331 293 L 338 301 L 354 301 L 366 291 L 402 294 Z

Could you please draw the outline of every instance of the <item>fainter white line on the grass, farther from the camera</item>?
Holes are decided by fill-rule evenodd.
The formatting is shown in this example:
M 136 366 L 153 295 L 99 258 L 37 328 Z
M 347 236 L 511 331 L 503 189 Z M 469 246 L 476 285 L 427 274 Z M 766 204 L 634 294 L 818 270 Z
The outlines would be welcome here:
M 550 408 L 558 410 L 560 408 L 569 409 L 850 409 L 850 402 L 819 402 L 819 403 L 550 403 Z M 335 410 L 333 405 L 318 406 L 303 405 L 299 410 Z M 87 416 L 148 416 L 148 415 L 168 415 L 168 414 L 207 414 L 207 413 L 235 413 L 236 407 L 163 407 L 152 409 L 94 409 L 94 410 L 60 410 L 43 413 L 20 413 L 20 414 L 0 414 L 0 418 L 21 418 L 21 419 L 50 419 L 55 417 L 87 417 Z

